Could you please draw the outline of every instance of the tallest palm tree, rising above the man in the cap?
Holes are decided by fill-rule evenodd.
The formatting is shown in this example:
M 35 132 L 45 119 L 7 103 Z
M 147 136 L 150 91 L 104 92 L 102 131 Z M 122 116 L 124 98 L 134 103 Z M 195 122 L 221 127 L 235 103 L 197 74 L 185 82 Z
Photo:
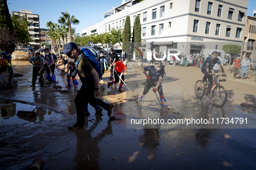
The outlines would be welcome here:
M 68 12 L 62 12 L 62 16 L 59 17 L 58 22 L 68 26 L 69 38 L 70 42 L 72 42 L 71 24 L 78 25 L 80 21 L 75 16 L 70 17 Z

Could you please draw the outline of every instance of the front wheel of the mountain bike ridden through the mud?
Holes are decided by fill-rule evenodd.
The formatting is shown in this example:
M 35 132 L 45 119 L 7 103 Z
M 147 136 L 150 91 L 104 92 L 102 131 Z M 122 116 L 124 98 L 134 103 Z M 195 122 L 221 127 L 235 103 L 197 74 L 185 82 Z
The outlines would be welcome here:
M 218 85 L 217 88 L 215 87 L 211 94 L 212 102 L 213 104 L 216 104 L 218 106 L 224 106 L 227 102 L 227 91 L 226 89 Z

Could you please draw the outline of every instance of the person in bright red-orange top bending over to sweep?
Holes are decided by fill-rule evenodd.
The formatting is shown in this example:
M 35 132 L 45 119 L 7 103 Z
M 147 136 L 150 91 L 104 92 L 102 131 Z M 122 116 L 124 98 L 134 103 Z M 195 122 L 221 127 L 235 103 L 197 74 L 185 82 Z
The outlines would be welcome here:
M 116 63 L 113 64 L 113 70 L 114 70 L 114 76 L 115 76 L 115 80 L 111 81 L 111 82 L 107 82 L 107 88 L 110 88 L 110 85 L 116 84 L 119 82 L 119 77 L 121 77 L 120 80 L 120 85 L 119 85 L 119 89 L 118 91 L 123 92 L 123 82 L 124 82 L 124 76 L 123 76 L 123 72 L 127 69 L 127 65 L 128 61 L 126 60 L 126 58 L 123 61 L 117 61 Z

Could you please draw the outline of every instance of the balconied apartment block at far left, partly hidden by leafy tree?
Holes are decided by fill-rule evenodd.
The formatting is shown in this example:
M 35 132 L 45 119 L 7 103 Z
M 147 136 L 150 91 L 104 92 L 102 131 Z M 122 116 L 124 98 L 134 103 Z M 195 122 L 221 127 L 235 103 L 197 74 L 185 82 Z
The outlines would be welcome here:
M 25 46 L 34 46 L 36 48 L 39 48 L 40 40 L 39 40 L 39 15 L 33 14 L 33 11 L 26 10 L 26 9 L 20 9 L 20 12 L 13 12 L 14 15 L 18 15 L 20 17 L 25 16 L 25 18 L 29 22 L 33 22 L 29 26 L 29 33 L 32 35 L 33 40 L 32 42 L 29 42 L 29 44 L 24 44 Z

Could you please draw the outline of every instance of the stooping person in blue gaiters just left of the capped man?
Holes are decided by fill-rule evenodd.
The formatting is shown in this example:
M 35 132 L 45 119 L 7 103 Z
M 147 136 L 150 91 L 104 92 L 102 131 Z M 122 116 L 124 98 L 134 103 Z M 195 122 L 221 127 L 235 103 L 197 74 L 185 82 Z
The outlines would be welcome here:
M 74 90 L 76 91 L 77 88 L 78 88 L 78 81 L 77 79 L 75 78 L 75 76 L 77 75 L 77 70 L 75 69 L 75 63 L 72 62 L 72 61 L 68 61 L 68 60 L 65 60 L 64 58 L 60 58 L 60 60 L 62 60 L 62 63 L 65 65 L 65 72 L 63 73 L 60 73 L 60 75 L 65 75 L 67 74 L 67 82 L 68 82 L 68 86 L 72 86 L 71 85 L 71 77 L 72 77 L 72 80 L 73 80 L 73 85 L 74 85 Z M 59 60 L 59 61 L 60 61 Z M 58 63 L 57 63 L 58 64 Z M 58 67 L 58 65 L 56 65 L 56 67 Z

